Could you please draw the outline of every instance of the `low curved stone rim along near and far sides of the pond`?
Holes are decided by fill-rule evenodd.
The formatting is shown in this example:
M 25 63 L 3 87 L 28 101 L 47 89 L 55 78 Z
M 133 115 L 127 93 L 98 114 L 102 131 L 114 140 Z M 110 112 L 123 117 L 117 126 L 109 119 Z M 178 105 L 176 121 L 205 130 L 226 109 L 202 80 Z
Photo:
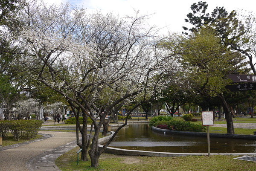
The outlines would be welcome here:
M 175 130 L 165 130 L 160 128 L 152 127 L 152 131 L 160 132 L 166 134 L 182 134 L 182 135 L 192 135 L 192 136 L 207 136 L 207 133 L 198 132 L 186 132 L 186 131 L 175 131 Z M 108 141 L 113 136 L 112 134 L 104 138 L 99 139 L 99 148 L 102 148 L 105 142 Z M 237 135 L 237 134 L 226 134 L 226 133 L 210 133 L 210 137 L 223 137 L 223 138 L 240 138 L 240 139 L 256 139 L 254 135 Z M 166 152 L 156 152 L 156 151 L 140 151 L 140 150 L 127 150 L 121 148 L 107 147 L 105 153 L 118 154 L 118 155 L 138 155 L 138 156 L 154 156 L 154 157 L 180 157 L 180 156 L 201 156 L 208 155 L 208 153 L 166 153 Z M 211 153 L 211 155 L 233 155 L 233 156 L 256 156 L 256 153 Z

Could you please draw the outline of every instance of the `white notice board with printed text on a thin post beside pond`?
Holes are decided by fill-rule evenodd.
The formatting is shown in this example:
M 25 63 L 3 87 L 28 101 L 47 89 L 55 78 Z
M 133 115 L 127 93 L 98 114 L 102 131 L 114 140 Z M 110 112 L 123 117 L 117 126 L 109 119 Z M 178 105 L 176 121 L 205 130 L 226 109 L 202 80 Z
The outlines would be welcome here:
M 202 111 L 202 125 L 207 126 L 207 146 L 208 146 L 208 156 L 210 156 L 209 125 L 214 125 L 213 111 Z

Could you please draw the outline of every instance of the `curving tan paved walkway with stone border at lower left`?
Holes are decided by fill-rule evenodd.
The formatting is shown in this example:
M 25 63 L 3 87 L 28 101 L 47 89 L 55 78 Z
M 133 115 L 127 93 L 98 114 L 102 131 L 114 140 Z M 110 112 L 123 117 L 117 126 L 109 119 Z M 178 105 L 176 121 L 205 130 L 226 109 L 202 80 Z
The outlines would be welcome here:
M 48 138 L 0 148 L 0 171 L 60 171 L 55 159 L 76 146 L 76 133 L 39 131 Z

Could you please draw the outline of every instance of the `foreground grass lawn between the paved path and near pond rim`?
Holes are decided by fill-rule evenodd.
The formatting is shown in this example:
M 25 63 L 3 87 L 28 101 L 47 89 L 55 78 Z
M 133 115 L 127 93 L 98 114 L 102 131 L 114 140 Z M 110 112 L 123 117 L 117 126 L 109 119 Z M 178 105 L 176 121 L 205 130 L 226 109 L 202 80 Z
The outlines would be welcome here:
M 79 148 L 59 157 L 55 163 L 62 171 L 255 171 L 256 162 L 233 159 L 238 156 L 140 157 L 102 154 L 98 168 L 90 161 L 79 161 Z M 81 154 L 79 154 L 81 157 Z

